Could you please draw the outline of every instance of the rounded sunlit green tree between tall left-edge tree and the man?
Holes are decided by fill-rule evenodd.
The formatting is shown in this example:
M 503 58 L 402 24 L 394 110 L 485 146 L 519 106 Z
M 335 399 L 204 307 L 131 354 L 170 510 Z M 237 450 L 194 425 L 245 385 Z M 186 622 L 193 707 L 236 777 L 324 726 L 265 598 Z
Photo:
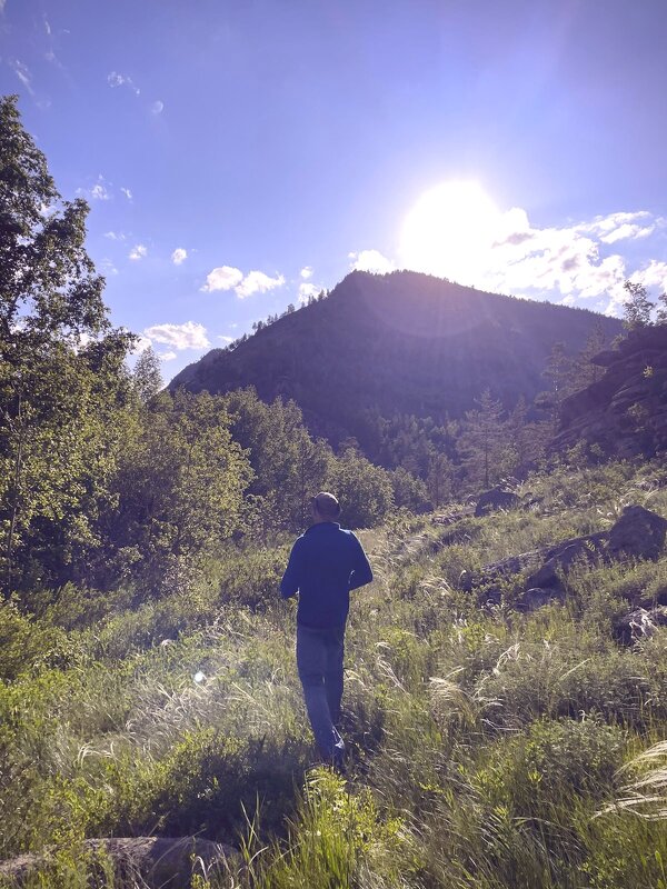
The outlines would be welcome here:
M 113 570 L 156 580 L 243 529 L 252 470 L 230 426 L 222 397 L 208 392 L 165 394 L 146 414 L 119 458 L 107 517 Z

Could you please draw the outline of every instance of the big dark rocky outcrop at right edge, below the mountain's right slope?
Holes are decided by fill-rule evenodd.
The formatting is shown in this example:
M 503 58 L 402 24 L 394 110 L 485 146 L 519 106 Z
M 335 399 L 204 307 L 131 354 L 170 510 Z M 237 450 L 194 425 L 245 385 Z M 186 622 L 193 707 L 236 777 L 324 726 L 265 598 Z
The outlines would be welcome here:
M 586 441 L 620 458 L 667 450 L 667 324 L 631 331 L 593 362 L 606 371 L 564 401 L 550 449 Z

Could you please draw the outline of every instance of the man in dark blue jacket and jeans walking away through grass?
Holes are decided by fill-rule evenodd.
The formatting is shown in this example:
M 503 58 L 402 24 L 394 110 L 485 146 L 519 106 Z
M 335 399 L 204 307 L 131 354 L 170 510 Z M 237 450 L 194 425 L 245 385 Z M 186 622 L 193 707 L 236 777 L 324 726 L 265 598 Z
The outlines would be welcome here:
M 358 538 L 336 521 L 340 505 L 320 491 L 311 501 L 313 523 L 297 538 L 280 593 L 298 591 L 297 668 L 312 733 L 325 761 L 342 767 L 345 743 L 336 723 L 342 698 L 345 625 L 350 590 L 370 583 L 372 571 Z

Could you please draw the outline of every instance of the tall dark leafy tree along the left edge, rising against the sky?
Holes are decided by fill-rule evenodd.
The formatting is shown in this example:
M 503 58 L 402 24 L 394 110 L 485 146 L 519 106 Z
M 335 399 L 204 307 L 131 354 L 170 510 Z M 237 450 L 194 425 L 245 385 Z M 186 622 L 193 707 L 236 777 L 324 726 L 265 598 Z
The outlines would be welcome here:
M 31 552 L 33 559 L 36 551 L 50 549 L 52 557 L 62 545 L 62 558 L 71 560 L 74 540 L 92 540 L 93 501 L 106 483 L 112 450 L 111 412 L 127 396 L 122 361 L 132 338 L 112 330 L 107 318 L 103 278 L 84 248 L 87 213 L 84 201 L 61 199 L 44 156 L 21 124 L 17 97 L 0 99 L 0 567 L 6 591 L 26 568 L 18 570 L 18 553 Z

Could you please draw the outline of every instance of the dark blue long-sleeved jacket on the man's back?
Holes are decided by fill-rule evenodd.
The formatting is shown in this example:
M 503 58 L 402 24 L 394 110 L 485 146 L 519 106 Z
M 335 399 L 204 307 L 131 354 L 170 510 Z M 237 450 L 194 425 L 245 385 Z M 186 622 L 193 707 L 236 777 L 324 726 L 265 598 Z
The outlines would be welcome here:
M 350 590 L 370 583 L 372 571 L 364 547 L 338 522 L 312 525 L 297 538 L 280 582 L 289 599 L 299 593 L 297 622 L 302 627 L 342 627 L 350 607 Z

